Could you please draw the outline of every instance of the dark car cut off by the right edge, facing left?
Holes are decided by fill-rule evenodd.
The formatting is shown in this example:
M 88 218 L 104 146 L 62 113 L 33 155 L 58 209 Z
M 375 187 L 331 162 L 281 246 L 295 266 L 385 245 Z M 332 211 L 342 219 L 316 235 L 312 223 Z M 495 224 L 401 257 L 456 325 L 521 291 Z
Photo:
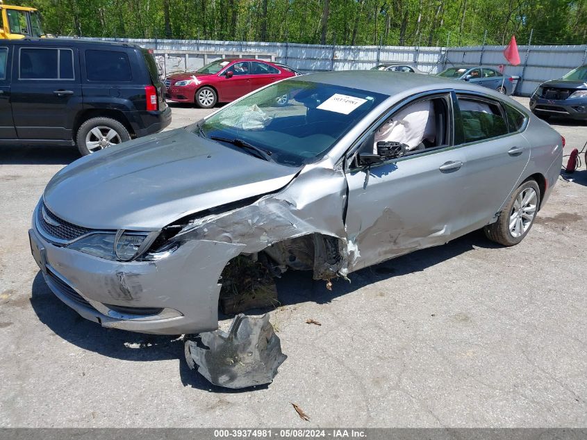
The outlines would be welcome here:
M 530 98 L 530 110 L 543 119 L 562 116 L 587 120 L 587 65 L 540 84 Z

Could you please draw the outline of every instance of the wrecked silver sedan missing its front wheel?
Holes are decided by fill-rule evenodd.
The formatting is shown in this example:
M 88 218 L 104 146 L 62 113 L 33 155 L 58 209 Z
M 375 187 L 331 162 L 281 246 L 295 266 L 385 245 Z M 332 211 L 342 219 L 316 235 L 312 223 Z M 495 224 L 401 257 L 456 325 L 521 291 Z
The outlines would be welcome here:
M 197 333 L 236 257 L 329 280 L 475 229 L 522 241 L 561 136 L 492 90 L 392 75 L 298 76 L 78 159 L 33 214 L 44 279 L 104 327 Z

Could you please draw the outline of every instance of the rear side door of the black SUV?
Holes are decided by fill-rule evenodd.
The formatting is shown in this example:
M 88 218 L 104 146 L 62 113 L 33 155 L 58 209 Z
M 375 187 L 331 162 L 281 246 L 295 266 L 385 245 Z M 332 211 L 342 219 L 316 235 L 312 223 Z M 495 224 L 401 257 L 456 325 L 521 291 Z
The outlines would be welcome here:
M 19 139 L 72 140 L 82 108 L 74 47 L 17 45 L 10 96 Z

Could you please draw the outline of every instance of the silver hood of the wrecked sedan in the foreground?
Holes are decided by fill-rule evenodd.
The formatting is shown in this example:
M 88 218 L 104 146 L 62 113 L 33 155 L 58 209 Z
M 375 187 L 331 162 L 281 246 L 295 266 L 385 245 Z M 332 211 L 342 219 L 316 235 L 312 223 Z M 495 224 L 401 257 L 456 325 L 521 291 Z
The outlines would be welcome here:
M 43 197 L 51 212 L 74 225 L 151 231 L 272 193 L 298 171 L 176 129 L 78 159 L 49 181 Z

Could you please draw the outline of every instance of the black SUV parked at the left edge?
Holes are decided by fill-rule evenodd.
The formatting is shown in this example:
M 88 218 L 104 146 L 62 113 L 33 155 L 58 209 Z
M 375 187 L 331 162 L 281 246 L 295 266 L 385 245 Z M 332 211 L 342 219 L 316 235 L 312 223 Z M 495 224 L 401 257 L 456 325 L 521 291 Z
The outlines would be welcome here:
M 90 154 L 171 122 L 146 49 L 88 40 L 0 40 L 0 145 Z

